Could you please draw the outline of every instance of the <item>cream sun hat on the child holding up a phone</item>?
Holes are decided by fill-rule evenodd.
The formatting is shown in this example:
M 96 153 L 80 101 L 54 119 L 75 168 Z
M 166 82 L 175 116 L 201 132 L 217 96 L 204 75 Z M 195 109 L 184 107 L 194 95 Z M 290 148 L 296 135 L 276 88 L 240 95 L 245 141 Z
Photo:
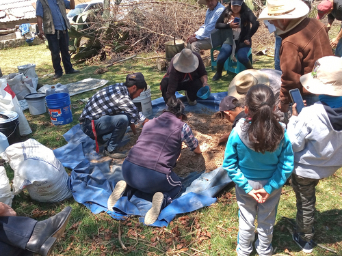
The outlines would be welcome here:
M 342 96 L 342 59 L 326 56 L 318 59 L 313 71 L 300 76 L 300 83 L 311 94 Z

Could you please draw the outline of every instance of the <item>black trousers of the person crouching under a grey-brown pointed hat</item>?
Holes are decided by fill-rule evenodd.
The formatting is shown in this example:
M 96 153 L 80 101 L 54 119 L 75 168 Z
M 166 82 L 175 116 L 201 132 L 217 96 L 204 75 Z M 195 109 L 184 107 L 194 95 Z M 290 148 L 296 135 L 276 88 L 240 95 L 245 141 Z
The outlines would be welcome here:
M 160 82 L 161 96 L 163 96 L 165 103 L 168 102 L 166 97 L 166 92 L 168 91 L 169 78 L 164 77 Z M 179 83 L 176 91 L 187 91 L 187 97 L 189 100 L 194 101 L 197 98 L 197 91 L 202 88 L 203 84 L 200 79 L 194 79 L 193 81 L 187 81 L 184 83 Z

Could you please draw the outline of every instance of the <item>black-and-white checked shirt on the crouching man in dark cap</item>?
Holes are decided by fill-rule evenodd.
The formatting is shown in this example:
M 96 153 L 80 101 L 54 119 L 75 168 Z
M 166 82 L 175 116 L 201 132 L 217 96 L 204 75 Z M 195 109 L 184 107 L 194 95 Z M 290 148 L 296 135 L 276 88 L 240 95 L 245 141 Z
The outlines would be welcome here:
M 84 107 L 79 121 L 96 120 L 103 115 L 118 115 L 119 113 L 128 114 L 132 124 L 142 123 L 146 119 L 132 102 L 124 83 L 109 85 L 94 94 Z

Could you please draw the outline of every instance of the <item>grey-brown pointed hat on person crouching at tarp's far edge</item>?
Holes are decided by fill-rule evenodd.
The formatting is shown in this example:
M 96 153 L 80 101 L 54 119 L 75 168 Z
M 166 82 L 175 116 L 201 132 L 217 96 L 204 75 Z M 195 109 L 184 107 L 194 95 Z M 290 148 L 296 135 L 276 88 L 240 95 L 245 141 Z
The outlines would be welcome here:
M 183 49 L 173 57 L 174 68 L 182 73 L 191 73 L 198 68 L 198 57 L 190 49 Z

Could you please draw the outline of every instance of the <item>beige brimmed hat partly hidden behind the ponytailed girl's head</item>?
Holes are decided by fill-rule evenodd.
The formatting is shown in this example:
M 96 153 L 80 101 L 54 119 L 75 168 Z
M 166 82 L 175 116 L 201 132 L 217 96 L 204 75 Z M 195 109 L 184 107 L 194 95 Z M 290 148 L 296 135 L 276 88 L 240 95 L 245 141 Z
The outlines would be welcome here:
M 263 84 L 269 86 L 267 74 L 259 70 L 244 70 L 239 72 L 228 87 L 228 96 L 234 96 L 238 100 L 245 97 L 247 91 L 253 85 Z

